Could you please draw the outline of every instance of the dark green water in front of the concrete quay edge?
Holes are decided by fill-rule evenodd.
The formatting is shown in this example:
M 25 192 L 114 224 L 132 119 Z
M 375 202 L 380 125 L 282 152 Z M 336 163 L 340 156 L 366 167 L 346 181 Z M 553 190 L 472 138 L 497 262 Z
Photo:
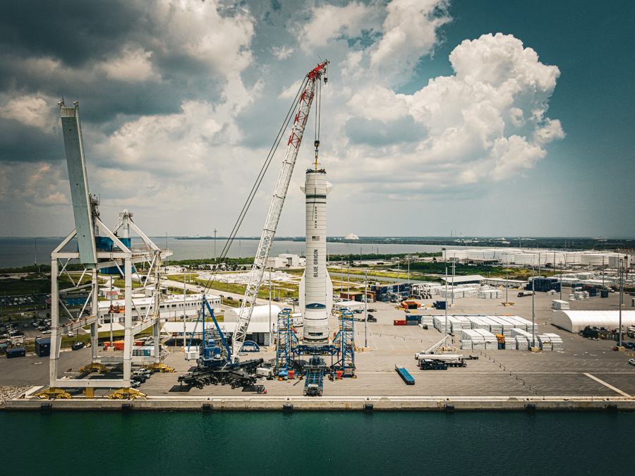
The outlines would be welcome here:
M 619 413 L 8 413 L 4 475 L 605 475 Z

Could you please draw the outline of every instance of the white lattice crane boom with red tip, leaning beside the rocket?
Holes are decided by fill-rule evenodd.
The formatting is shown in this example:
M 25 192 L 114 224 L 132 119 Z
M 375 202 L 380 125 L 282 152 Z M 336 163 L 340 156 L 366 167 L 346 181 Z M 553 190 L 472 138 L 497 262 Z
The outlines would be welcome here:
M 311 104 L 315 97 L 315 87 L 317 81 L 322 77 L 327 82 L 328 61 L 318 64 L 312 71 L 307 73 L 308 80 L 306 86 L 300 96 L 298 105 L 298 114 L 294 118 L 294 127 L 291 130 L 291 136 L 289 142 L 286 145 L 286 152 L 284 154 L 284 161 L 282 162 L 282 169 L 278 176 L 276 183 L 276 190 L 271 200 L 269 207 L 269 213 L 267 214 L 267 220 L 265 221 L 265 227 L 262 229 L 262 236 L 260 237 L 260 244 L 258 245 L 258 252 L 256 252 L 255 259 L 253 260 L 253 269 L 247 284 L 245 292 L 245 298 L 241 305 L 241 310 L 238 314 L 238 322 L 236 323 L 236 331 L 234 332 L 234 341 L 232 343 L 232 353 L 234 358 L 238 359 L 238 352 L 241 350 L 245 338 L 247 335 L 247 327 L 251 320 L 251 313 L 258 298 L 258 291 L 260 291 L 260 284 L 262 283 L 262 276 L 265 273 L 265 267 L 267 266 L 267 260 L 269 259 L 269 253 L 271 251 L 271 245 L 276 234 L 276 228 L 282 213 L 282 205 L 284 205 L 284 199 L 286 197 L 286 191 L 289 189 L 289 182 L 291 181 L 291 173 L 294 171 L 294 165 L 296 164 L 296 158 L 298 157 L 298 150 L 304 135 L 304 129 L 306 128 L 306 122 L 308 121 Z

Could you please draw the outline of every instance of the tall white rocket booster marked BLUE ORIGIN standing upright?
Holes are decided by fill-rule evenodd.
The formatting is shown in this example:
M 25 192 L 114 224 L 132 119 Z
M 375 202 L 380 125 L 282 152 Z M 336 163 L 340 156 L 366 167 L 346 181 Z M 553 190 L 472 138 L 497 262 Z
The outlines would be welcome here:
M 326 269 L 326 197 L 331 191 L 324 170 L 308 170 L 306 195 L 306 269 L 300 284 L 305 343 L 325 343 L 329 338 L 329 315 L 333 285 Z

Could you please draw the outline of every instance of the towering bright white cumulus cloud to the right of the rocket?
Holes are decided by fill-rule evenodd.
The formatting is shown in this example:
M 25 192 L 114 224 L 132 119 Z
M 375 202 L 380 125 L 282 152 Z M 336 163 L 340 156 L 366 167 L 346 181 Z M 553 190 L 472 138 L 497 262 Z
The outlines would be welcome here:
M 367 157 L 373 173 L 366 186 L 373 190 L 394 193 L 397 181 L 403 190 L 421 194 L 456 185 L 486 187 L 531 169 L 547 154 L 546 144 L 564 137 L 560 121 L 546 115 L 560 71 L 540 63 L 521 40 L 483 35 L 459 44 L 449 60 L 454 75 L 433 78 L 414 94 L 375 85 L 351 95 L 353 118 L 347 124 L 356 116 L 374 116 L 384 123 L 375 129 L 392 130 L 410 117 L 422 133 L 414 150 L 406 145 L 406 128 L 402 147 L 394 141 L 380 149 L 364 147 L 363 135 L 351 135 L 349 147 L 336 154 L 349 176 L 358 176 L 353 158 Z

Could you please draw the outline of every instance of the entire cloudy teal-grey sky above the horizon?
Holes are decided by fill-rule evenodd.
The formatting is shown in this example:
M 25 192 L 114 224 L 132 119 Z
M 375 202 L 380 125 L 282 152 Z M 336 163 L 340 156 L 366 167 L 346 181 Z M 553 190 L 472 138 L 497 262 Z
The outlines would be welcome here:
M 105 223 L 127 208 L 150 235 L 229 233 L 322 58 L 329 236 L 632 238 L 633 13 L 631 1 L 6 3 L 0 235 L 73 229 L 62 97 L 79 99 Z M 313 130 L 312 116 L 279 236 L 304 233 Z M 260 235 L 283 155 L 240 235 Z

